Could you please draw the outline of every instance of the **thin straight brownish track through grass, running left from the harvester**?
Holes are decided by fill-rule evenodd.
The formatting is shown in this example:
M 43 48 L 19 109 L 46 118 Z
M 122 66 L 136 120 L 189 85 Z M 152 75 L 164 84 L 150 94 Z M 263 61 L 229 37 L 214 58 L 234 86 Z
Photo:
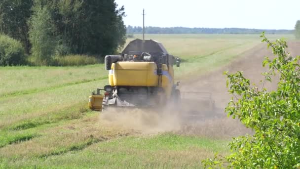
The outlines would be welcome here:
M 56 88 L 66 87 L 66 86 L 70 86 L 70 85 L 84 84 L 84 83 L 89 83 L 89 82 L 105 80 L 105 79 L 108 79 L 108 76 L 103 76 L 98 79 L 82 80 L 82 81 L 77 81 L 77 82 L 72 82 L 72 83 L 67 83 L 67 84 L 59 84 L 59 85 L 50 86 L 50 87 L 34 88 L 34 89 L 28 89 L 28 90 L 22 90 L 22 91 L 13 91 L 13 92 L 1 94 L 0 99 L 4 98 L 4 97 L 21 96 L 21 95 L 26 95 L 26 94 L 38 93 L 41 91 L 53 90 Z

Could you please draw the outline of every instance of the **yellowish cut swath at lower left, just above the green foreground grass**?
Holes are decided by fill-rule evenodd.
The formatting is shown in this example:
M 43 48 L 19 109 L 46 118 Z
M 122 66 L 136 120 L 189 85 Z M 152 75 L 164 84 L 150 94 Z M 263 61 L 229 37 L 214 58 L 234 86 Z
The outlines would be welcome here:
M 99 116 L 94 113 L 87 113 L 84 117 L 72 121 L 59 121 L 24 130 L 1 132 L 5 132 L 3 136 L 7 138 L 22 133 L 32 133 L 38 136 L 29 141 L 14 141 L 2 146 L 0 159 L 9 160 L 47 158 L 79 151 L 91 144 L 129 134 L 128 131 L 122 129 L 103 126 L 99 122 Z

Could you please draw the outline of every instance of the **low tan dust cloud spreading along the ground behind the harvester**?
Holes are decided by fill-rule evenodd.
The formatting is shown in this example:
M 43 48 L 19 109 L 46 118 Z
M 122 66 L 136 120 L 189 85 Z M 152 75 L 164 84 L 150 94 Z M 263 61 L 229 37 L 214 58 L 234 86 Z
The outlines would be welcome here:
M 191 107 L 189 110 L 183 110 L 182 107 L 174 105 L 162 111 L 112 108 L 103 112 L 100 119 L 106 126 L 134 130 L 141 134 L 174 132 L 184 135 L 230 138 L 252 133 L 238 120 L 227 118 L 225 113 L 201 112 L 202 107 L 193 107 L 193 109 L 198 111 L 190 111 Z

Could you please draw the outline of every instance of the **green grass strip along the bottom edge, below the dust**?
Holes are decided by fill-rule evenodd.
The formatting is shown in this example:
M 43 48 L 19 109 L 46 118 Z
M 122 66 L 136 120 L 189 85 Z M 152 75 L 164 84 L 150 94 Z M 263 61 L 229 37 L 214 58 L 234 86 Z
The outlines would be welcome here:
M 19 168 L 201 168 L 203 158 L 227 150 L 226 140 L 165 133 L 116 138 L 46 159 L 2 161 Z

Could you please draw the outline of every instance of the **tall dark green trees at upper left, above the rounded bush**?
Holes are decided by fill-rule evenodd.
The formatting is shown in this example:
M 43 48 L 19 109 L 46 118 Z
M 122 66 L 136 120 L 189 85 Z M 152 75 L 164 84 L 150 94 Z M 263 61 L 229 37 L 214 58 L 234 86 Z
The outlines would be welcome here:
M 124 45 L 124 15 L 114 0 L 0 0 L 0 34 L 41 65 L 55 55 L 101 57 Z

